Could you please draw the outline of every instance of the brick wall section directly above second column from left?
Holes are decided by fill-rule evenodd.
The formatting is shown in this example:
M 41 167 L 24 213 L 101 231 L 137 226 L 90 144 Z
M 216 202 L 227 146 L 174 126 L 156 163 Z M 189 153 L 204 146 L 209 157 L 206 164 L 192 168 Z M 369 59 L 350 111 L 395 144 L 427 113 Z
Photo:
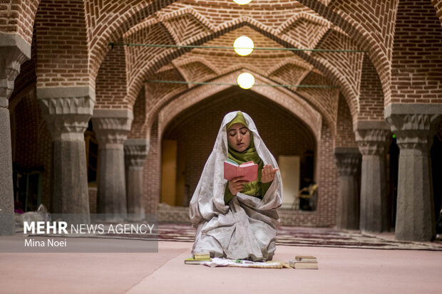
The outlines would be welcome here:
M 93 85 L 82 0 L 42 0 L 35 33 L 37 88 Z

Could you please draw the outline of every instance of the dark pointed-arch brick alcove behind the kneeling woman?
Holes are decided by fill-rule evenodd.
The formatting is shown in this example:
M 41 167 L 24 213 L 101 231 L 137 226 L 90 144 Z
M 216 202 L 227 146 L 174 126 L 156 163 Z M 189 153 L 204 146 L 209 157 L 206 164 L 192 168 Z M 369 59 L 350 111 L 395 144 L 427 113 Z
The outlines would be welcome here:
M 212 152 L 222 118 L 227 112 L 235 110 L 242 110 L 252 117 L 259 135 L 278 161 L 281 155 L 299 157 L 300 186 L 305 178 L 314 177 L 312 165 L 315 161 L 312 157 L 316 156 L 317 142 L 309 127 L 262 95 L 238 90 L 237 87 L 227 88 L 180 112 L 165 127 L 161 202 L 188 205 L 207 157 Z M 169 161 L 170 171 L 164 174 L 165 157 L 170 157 L 170 154 L 175 159 L 169 159 L 172 161 Z M 176 174 L 173 174 L 174 170 Z M 165 189 L 169 191 L 167 194 Z M 174 193 L 175 196 L 171 195 Z

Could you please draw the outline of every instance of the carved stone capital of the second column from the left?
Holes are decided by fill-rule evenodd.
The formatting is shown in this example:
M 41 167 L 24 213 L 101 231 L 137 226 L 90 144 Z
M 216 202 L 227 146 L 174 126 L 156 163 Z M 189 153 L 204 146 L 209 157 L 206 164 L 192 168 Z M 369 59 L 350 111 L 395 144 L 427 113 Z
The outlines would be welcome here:
M 84 140 L 95 105 L 92 88 L 38 88 L 37 99 L 53 140 Z

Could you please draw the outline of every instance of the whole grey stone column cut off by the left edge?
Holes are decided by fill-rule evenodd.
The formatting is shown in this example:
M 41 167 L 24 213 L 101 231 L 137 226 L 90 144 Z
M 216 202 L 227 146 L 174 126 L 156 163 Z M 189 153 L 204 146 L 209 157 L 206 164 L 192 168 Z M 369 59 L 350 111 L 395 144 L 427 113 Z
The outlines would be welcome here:
M 15 34 L 0 33 L 0 236 L 15 234 L 9 97 L 31 45 Z

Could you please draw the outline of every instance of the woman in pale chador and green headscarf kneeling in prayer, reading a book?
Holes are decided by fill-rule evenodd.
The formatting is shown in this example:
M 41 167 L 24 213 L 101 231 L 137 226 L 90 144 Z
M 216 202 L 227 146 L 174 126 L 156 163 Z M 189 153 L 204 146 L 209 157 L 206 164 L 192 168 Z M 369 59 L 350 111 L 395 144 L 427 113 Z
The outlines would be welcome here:
M 243 177 L 224 179 L 224 162 L 258 164 L 256 182 Z M 252 118 L 230 112 L 224 120 L 190 201 L 190 219 L 197 227 L 192 252 L 212 257 L 272 260 L 277 208 L 282 204 L 277 162 L 262 142 Z

